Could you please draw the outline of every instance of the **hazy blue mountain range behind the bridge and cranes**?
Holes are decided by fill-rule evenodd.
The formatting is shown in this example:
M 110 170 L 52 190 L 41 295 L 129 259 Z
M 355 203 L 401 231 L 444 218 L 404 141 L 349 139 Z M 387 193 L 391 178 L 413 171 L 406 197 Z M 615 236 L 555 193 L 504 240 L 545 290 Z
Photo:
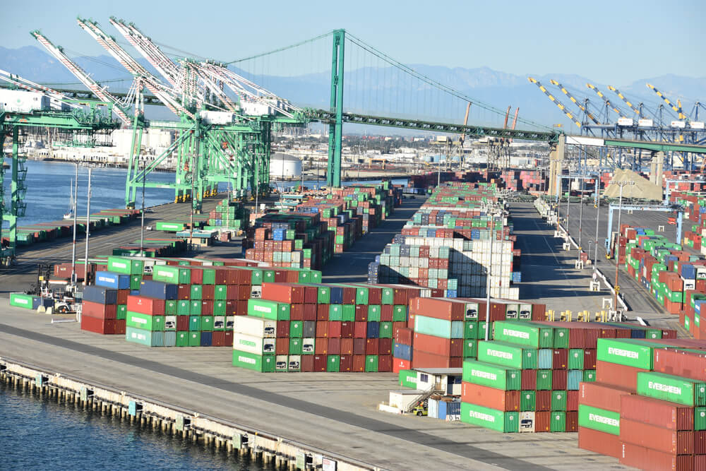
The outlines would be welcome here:
M 111 56 L 78 56 L 73 59 L 83 70 L 88 71 L 95 80 L 109 85 L 109 90 L 124 91 L 130 84 L 129 73 L 122 68 Z M 148 69 L 151 66 L 144 59 L 139 59 L 140 63 Z M 560 109 L 556 107 L 547 97 L 542 96 L 542 91 L 536 85 L 527 81 L 527 76 L 533 76 L 541 82 L 549 92 L 574 114 L 580 115 L 580 110 L 573 105 L 569 98 L 563 95 L 559 88 L 549 83 L 554 79 L 561 83 L 572 93 L 577 100 L 582 102 L 586 97 L 590 99 L 590 109 L 594 114 L 604 112 L 604 102 L 594 91 L 587 88 L 587 83 L 592 83 L 618 108 L 628 114 L 630 109 L 618 95 L 608 90 L 606 85 L 592 81 L 591 78 L 582 77 L 568 73 L 551 73 L 535 76 L 529 71 L 527 75 L 516 75 L 502 71 L 495 71 L 488 67 L 462 68 L 429 66 L 426 64 L 409 64 L 409 67 L 423 76 L 442 83 L 462 95 L 472 97 L 474 101 L 480 100 L 496 109 L 505 110 L 512 106 L 520 107 L 520 117 L 530 119 L 544 126 L 552 126 L 561 123 L 564 127 L 573 126 L 566 119 Z M 16 73 L 23 78 L 37 83 L 49 84 L 54 88 L 83 88 L 77 84 L 77 79 L 66 68 L 44 50 L 25 46 L 18 49 L 6 49 L 0 47 L 0 68 Z M 287 97 L 297 105 L 328 108 L 330 94 L 329 73 L 311 73 L 301 76 L 259 76 L 249 75 L 246 71 L 234 69 L 242 75 L 252 78 L 256 83 L 260 83 L 265 88 L 273 90 L 282 97 Z M 395 78 L 396 77 L 396 78 Z M 119 81 L 126 79 L 125 81 Z M 638 105 L 645 103 L 648 110 L 655 110 L 660 104 L 664 104 L 657 95 L 648 89 L 645 84 L 651 83 L 658 88 L 666 97 L 676 103 L 681 97 L 683 109 L 690 113 L 694 102 L 706 99 L 706 78 L 691 78 L 678 76 L 676 74 L 665 74 L 657 77 L 642 78 L 628 84 L 616 85 L 619 90 Z M 437 94 L 436 99 L 433 90 L 429 85 L 421 81 L 409 80 L 409 76 L 400 73 L 395 68 L 366 69 L 359 68 L 354 71 L 347 71 L 345 76 L 346 93 L 345 105 L 352 111 L 359 109 L 363 112 L 379 115 L 400 115 L 409 117 L 416 114 L 420 119 L 438 119 L 448 121 L 449 114 L 457 115 L 454 121 L 462 120 L 465 113 L 465 105 L 458 99 L 449 100 L 448 105 L 443 110 L 426 108 L 422 102 L 429 100 L 446 100 L 446 95 Z M 397 100 L 395 100 L 395 95 Z M 402 98 L 400 98 L 400 95 Z M 385 107 L 385 102 L 387 107 Z M 429 105 L 429 104 L 427 104 Z M 157 108 L 157 107 L 155 107 Z M 469 122 L 481 124 L 478 121 L 487 121 L 482 124 L 498 124 L 498 119 L 502 121 L 502 116 L 489 112 L 482 112 L 477 107 L 472 108 L 476 114 L 471 115 Z M 375 111 L 373 111 L 375 110 Z M 702 112 L 706 110 L 702 109 Z M 612 113 L 612 112 L 611 112 Z M 490 115 L 490 116 L 488 116 Z M 615 114 L 611 114 L 613 119 Z M 148 110 L 148 117 L 168 118 L 169 112 L 166 109 Z M 691 116 L 695 119 L 695 116 Z M 669 107 L 664 107 L 664 119 L 669 121 L 676 119 L 674 112 Z M 701 121 L 704 118 L 699 117 Z M 517 126 L 521 127 L 520 124 Z

